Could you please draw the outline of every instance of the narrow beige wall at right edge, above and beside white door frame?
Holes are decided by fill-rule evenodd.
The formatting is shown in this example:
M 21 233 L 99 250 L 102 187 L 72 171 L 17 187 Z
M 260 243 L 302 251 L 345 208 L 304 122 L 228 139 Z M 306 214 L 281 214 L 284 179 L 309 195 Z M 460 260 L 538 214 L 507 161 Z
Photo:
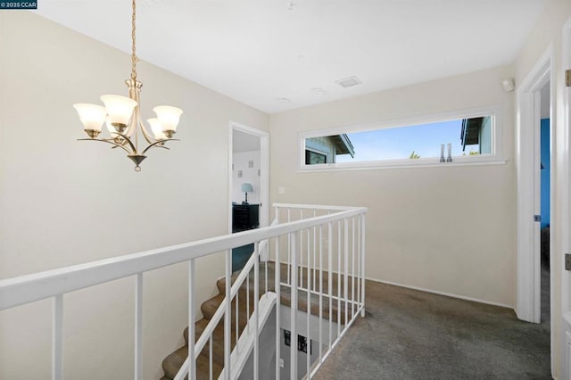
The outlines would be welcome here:
M 553 53 L 553 69 L 555 70 L 555 83 L 551 83 L 551 126 L 553 134 L 551 135 L 551 149 L 555 160 L 551 160 L 551 175 L 553 176 L 551 186 L 554 198 L 551 201 L 551 275 L 554 277 L 554 290 L 552 293 L 551 313 L 554 315 L 554 367 L 552 375 L 556 378 L 563 378 L 562 366 L 563 351 L 562 338 L 565 335 L 564 326 L 562 326 L 562 294 L 560 289 L 565 286 L 562 280 L 562 263 L 563 253 L 568 249 L 568 243 L 564 240 L 568 238 L 568 230 L 563 234 L 563 225 L 567 225 L 569 221 L 563 220 L 563 207 L 565 206 L 562 189 L 565 181 L 565 171 L 569 168 L 567 152 L 568 130 L 564 124 L 563 111 L 565 104 L 563 102 L 564 91 L 564 70 L 568 67 L 562 67 L 562 35 L 563 25 L 569 21 L 571 17 L 571 2 L 568 0 L 550 0 L 545 5 L 542 16 L 535 25 L 535 28 L 527 39 L 524 48 L 517 56 L 515 62 L 516 83 L 521 83 L 528 75 L 530 70 L 534 68 L 542 55 L 548 49 L 552 49 Z M 571 46 L 568 46 L 571 48 Z M 571 50 L 570 50 L 571 51 Z M 567 194 L 568 196 L 568 194 Z M 566 237 L 567 236 L 567 237 Z M 566 275 L 568 276 L 568 275 Z M 568 302 L 568 301 L 567 301 Z

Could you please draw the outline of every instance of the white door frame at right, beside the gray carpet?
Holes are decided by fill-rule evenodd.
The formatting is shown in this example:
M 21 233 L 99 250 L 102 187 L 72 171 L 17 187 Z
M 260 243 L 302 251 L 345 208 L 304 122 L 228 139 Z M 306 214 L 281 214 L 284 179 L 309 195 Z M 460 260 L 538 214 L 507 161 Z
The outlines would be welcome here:
M 517 318 L 528 322 L 541 322 L 541 224 L 534 221 L 534 215 L 541 212 L 540 165 L 540 91 L 550 83 L 550 161 L 556 162 L 553 137 L 556 136 L 553 122 L 556 83 L 553 46 L 550 45 L 542 58 L 530 70 L 517 89 Z M 550 170 L 550 199 L 555 199 L 554 170 Z M 550 202 L 551 215 L 554 202 Z M 557 220 L 551 220 L 551 231 Z M 552 234 L 551 234 L 552 236 Z M 553 241 L 553 239 L 550 239 Z M 551 249 L 554 248 L 550 244 Z M 553 257 L 550 254 L 550 260 Z M 550 268 L 557 268 L 551 265 Z M 555 290 L 554 270 L 550 271 L 550 302 Z M 555 353 L 555 312 L 550 313 L 551 326 L 551 369 Z

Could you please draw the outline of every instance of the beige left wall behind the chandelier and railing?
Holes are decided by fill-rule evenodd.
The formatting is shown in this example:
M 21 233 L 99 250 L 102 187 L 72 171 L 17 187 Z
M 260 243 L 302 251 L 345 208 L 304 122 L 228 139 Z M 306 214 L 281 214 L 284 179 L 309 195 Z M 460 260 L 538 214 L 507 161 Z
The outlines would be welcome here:
M 143 118 L 160 103 L 185 110 L 171 151 L 136 173 L 125 154 L 76 142 L 73 103 L 127 94 L 130 58 L 31 12 L 0 13 L 0 278 L 221 235 L 228 228 L 228 121 L 268 129 L 268 116 L 141 63 Z M 197 263 L 200 299 L 221 256 Z M 128 278 L 64 298 L 64 377 L 132 378 Z M 145 378 L 182 342 L 186 265 L 145 274 Z M 0 378 L 50 374 L 50 302 L 0 313 Z

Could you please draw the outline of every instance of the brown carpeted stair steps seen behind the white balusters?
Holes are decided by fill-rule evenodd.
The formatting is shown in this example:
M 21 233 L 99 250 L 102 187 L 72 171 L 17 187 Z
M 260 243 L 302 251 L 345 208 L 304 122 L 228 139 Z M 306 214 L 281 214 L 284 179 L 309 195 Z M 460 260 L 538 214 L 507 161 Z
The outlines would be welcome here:
M 268 278 L 268 291 L 275 291 L 275 268 L 276 263 L 274 261 L 268 262 L 267 278 Z M 260 296 L 265 293 L 266 290 L 266 263 L 260 263 Z M 317 278 L 319 279 L 319 270 L 316 270 Z M 239 272 L 236 272 L 232 276 L 232 283 L 236 280 Z M 327 272 L 322 273 L 321 287 L 323 293 L 328 293 L 328 277 Z M 253 313 L 253 293 L 254 293 L 254 280 L 253 280 L 253 269 L 250 272 L 248 281 L 240 287 L 238 292 L 238 335 L 242 334 L 246 322 Z M 313 271 L 311 271 L 311 277 L 314 277 Z M 287 278 L 287 264 L 282 263 L 280 266 L 280 278 L 282 281 Z M 298 269 L 298 284 L 302 284 L 307 288 L 307 269 Z M 348 289 L 349 292 L 352 291 L 352 277 L 348 277 Z M 337 279 L 337 275 L 332 276 L 332 291 L 334 296 L 337 295 L 337 291 L 341 288 L 343 292 L 343 276 Z M 208 325 L 209 321 L 213 317 L 216 310 L 218 310 L 220 304 L 223 302 L 226 294 L 226 278 L 222 277 L 216 282 L 219 290 L 219 294 L 212 297 L 210 300 L 203 302 L 201 305 L 201 310 L 203 312 L 203 319 L 198 320 L 194 324 L 194 342 L 203 334 L 203 330 Z M 313 291 L 319 291 L 319 280 L 313 282 L 311 279 L 310 289 Z M 249 293 L 249 296 L 248 296 Z M 249 298 L 249 302 L 247 299 Z M 291 306 L 291 290 L 285 284 L 281 286 L 281 304 L 284 306 Z M 319 316 L 319 302 L 318 297 L 312 295 L 310 300 L 310 313 Z M 321 311 L 322 318 L 329 319 L 329 301 L 328 297 L 323 297 L 323 309 Z M 341 306 L 341 308 L 339 308 Z M 307 313 L 307 290 L 298 290 L 298 310 Z M 338 309 L 339 308 L 339 309 Z M 351 306 L 349 306 L 351 308 Z M 340 320 L 342 324 L 345 323 L 345 313 L 344 313 L 344 302 L 337 302 L 336 300 L 332 302 L 332 313 L 331 319 L 336 323 Z M 236 298 L 232 302 L 232 333 L 231 333 L 231 349 L 234 349 L 236 345 Z M 164 370 L 164 376 L 161 380 L 172 380 L 178 373 L 178 369 L 184 363 L 186 357 L 188 356 L 188 327 L 186 327 L 184 333 L 185 345 L 180 347 L 177 351 L 170 353 L 162 361 L 162 368 Z M 198 359 L 196 360 L 196 377 L 197 379 L 216 379 L 220 375 L 222 369 L 224 368 L 224 320 L 219 322 L 216 326 L 214 334 L 211 340 L 212 350 L 210 349 L 210 343 L 207 343 L 203 351 L 200 353 Z M 210 362 L 212 366 L 210 366 Z M 212 374 L 210 373 L 210 368 L 212 368 Z

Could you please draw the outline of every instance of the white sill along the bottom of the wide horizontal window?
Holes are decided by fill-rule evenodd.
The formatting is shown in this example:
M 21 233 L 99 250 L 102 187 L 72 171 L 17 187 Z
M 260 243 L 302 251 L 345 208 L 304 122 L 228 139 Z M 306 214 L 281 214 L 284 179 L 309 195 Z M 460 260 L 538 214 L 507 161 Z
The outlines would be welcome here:
M 451 168 L 459 166 L 504 165 L 508 160 L 497 157 L 464 158 L 459 157 L 452 162 L 440 162 L 434 159 L 369 161 L 360 163 L 328 163 L 319 165 L 303 165 L 298 172 L 331 171 L 331 170 L 367 170 L 367 169 L 410 169 L 410 168 Z

